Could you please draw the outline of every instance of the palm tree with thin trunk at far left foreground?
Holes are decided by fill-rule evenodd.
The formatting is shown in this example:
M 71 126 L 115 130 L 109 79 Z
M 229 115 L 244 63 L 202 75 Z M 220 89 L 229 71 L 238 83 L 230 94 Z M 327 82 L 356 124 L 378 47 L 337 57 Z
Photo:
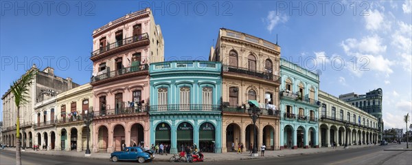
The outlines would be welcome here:
M 17 121 L 16 121 L 16 164 L 21 165 L 21 140 L 20 140 L 20 106 L 30 102 L 29 91 L 32 80 L 36 75 L 36 70 L 30 69 L 19 80 L 13 81 L 10 85 L 12 94 L 14 95 L 14 103 L 17 107 Z

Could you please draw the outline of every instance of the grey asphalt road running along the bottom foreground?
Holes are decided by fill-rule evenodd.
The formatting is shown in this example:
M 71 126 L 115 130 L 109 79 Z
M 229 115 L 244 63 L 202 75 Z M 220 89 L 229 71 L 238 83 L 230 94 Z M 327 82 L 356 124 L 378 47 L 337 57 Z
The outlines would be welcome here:
M 412 151 L 383 151 L 389 146 L 350 148 L 347 150 L 273 157 L 266 159 L 244 159 L 222 162 L 199 162 L 194 164 L 410 164 Z M 0 151 L 0 164 L 15 164 L 14 151 Z M 137 162 L 110 162 L 108 159 L 90 159 L 85 157 L 50 156 L 36 153 L 22 153 L 22 164 L 137 164 Z M 179 164 L 170 162 L 147 162 L 146 164 Z M 183 163 L 185 164 L 185 163 Z

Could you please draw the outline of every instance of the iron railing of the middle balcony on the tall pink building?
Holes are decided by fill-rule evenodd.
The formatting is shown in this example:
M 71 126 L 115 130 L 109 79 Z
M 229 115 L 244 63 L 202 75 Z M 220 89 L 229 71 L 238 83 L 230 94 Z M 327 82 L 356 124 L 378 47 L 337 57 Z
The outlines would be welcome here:
M 91 77 L 91 83 L 98 82 L 100 80 L 105 80 L 107 78 L 114 78 L 116 76 L 122 76 L 125 74 L 130 74 L 133 72 L 141 72 L 141 71 L 147 71 L 149 69 L 149 66 L 147 64 L 145 65 L 138 65 L 138 66 L 131 66 L 131 67 L 124 67 L 122 69 L 117 69 L 111 72 L 107 72 L 105 74 L 100 74 L 98 76 L 93 76 Z

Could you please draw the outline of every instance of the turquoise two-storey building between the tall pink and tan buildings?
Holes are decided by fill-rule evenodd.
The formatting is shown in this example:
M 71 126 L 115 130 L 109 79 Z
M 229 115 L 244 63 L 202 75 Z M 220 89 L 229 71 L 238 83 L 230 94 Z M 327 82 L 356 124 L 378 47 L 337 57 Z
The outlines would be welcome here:
M 221 153 L 222 65 L 210 61 L 150 64 L 150 142 Z

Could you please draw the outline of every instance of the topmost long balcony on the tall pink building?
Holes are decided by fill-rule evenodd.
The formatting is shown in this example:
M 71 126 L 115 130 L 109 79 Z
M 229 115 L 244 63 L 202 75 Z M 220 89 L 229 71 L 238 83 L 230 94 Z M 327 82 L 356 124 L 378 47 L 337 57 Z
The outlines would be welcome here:
M 111 54 L 129 50 L 133 47 L 141 47 L 149 44 L 150 40 L 148 33 L 139 34 L 137 36 L 130 36 L 126 39 L 115 41 L 114 43 L 110 43 L 105 47 L 100 47 L 98 50 L 91 52 L 90 59 L 91 61 L 97 61 L 106 56 L 110 56 Z

